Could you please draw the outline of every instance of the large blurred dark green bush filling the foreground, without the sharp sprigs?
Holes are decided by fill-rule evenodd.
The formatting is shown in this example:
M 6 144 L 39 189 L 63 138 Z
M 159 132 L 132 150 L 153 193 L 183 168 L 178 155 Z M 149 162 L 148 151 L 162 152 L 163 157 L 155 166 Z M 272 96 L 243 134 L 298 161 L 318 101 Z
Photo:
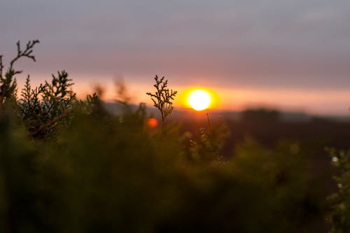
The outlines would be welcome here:
M 318 206 L 289 144 L 247 140 L 230 160 L 214 151 L 195 162 L 176 127 L 147 127 L 144 106 L 123 117 L 82 109 L 50 141 L 32 141 L 1 113 L 4 232 L 309 230 Z

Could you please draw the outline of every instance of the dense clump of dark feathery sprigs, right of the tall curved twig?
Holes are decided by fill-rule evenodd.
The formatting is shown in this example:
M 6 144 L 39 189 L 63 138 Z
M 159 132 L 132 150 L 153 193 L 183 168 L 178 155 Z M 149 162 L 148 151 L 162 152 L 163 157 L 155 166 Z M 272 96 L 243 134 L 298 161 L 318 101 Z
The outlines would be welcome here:
M 68 125 L 67 115 L 76 101 L 76 94 L 69 88 L 73 85 L 66 71 L 52 74 L 50 83 L 31 89 L 29 76 L 18 101 L 18 108 L 29 133 L 34 137 L 45 137 L 53 133 L 55 125 Z

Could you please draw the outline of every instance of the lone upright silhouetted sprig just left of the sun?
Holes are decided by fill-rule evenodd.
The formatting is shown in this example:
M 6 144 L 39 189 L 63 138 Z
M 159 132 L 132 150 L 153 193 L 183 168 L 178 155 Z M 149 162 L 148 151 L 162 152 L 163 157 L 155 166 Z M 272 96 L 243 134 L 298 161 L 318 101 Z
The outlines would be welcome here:
M 157 90 L 154 94 L 151 92 L 147 92 L 156 108 L 159 109 L 162 115 L 162 126 L 165 127 L 165 120 L 169 115 L 172 114 L 174 110 L 174 106 L 172 100 L 177 94 L 177 91 L 169 90 L 167 88 L 168 80 L 165 80 L 165 77 L 158 78 L 155 76 L 155 89 Z

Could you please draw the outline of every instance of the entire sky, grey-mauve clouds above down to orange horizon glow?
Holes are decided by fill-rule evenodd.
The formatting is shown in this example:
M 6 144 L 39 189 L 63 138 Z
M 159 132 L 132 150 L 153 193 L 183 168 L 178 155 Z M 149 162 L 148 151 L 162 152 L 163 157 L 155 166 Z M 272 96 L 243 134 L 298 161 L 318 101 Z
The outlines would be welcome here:
M 151 104 L 158 74 L 179 94 L 216 92 L 219 109 L 349 115 L 349 10 L 349 0 L 2 0 L 0 55 L 39 39 L 18 83 L 65 69 L 81 97 L 99 84 L 115 99 L 123 78 L 133 101 Z

